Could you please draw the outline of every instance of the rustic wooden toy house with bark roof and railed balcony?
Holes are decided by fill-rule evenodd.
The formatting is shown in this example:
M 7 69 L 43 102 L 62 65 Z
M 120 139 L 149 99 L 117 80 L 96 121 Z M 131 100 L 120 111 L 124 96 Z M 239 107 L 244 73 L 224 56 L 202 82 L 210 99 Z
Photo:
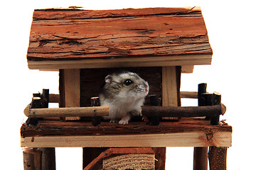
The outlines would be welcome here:
M 43 89 L 24 110 L 24 169 L 55 169 L 55 147 L 82 147 L 83 169 L 163 170 L 166 147 L 194 147 L 195 170 L 208 159 L 211 170 L 225 169 L 232 127 L 220 125 L 220 94 L 206 84 L 180 91 L 181 74 L 212 55 L 198 7 L 35 10 L 28 68 L 58 71 L 60 94 Z M 141 116 L 128 125 L 103 121 L 109 106 L 98 101 L 105 77 L 119 70 L 149 83 Z M 198 106 L 181 107 L 181 98 L 198 98 Z

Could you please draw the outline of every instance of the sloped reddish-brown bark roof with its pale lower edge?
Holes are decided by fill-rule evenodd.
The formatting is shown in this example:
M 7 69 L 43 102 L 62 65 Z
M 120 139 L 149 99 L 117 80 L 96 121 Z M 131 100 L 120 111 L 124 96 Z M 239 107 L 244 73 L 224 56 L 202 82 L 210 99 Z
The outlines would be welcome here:
M 33 13 L 28 67 L 75 69 L 210 64 L 213 55 L 200 8 Z

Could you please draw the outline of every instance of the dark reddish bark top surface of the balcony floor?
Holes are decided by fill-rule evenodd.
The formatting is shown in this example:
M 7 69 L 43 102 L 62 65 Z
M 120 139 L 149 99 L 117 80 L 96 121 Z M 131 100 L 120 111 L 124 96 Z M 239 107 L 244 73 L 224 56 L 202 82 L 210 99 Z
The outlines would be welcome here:
M 178 122 L 161 122 L 161 126 L 146 125 L 143 122 L 131 122 L 129 125 L 102 122 L 100 126 L 93 126 L 91 122 L 60 122 L 54 120 L 40 120 L 37 126 L 23 124 L 21 137 L 34 136 L 73 136 L 73 135 L 149 135 L 176 132 L 198 132 L 212 134 L 218 131 L 232 132 L 228 125 L 210 125 L 208 120 L 182 118 Z

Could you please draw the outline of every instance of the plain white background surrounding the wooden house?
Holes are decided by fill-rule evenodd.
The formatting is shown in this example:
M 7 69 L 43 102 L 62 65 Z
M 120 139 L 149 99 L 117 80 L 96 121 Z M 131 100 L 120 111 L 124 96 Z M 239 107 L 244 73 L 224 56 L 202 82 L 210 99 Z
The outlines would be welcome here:
M 58 94 L 58 72 L 29 70 L 26 51 L 34 8 L 83 6 L 87 9 L 201 6 L 213 48 L 211 65 L 182 74 L 181 91 L 222 94 L 228 110 L 221 119 L 233 125 L 228 170 L 255 167 L 255 3 L 253 1 L 1 1 L 0 25 L 0 169 L 23 169 L 20 147 L 23 108 L 43 88 Z M 196 106 L 196 101 L 183 100 Z M 254 154 L 253 154 L 254 153 Z M 82 169 L 82 149 L 57 148 L 57 169 Z M 168 148 L 166 169 L 193 169 L 193 148 Z

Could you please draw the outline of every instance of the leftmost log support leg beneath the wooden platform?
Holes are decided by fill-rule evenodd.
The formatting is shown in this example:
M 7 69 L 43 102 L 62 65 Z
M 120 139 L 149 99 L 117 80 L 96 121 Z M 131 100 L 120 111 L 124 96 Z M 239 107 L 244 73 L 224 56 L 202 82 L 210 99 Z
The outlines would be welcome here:
M 26 148 L 23 151 L 24 170 L 42 170 L 42 151 Z

